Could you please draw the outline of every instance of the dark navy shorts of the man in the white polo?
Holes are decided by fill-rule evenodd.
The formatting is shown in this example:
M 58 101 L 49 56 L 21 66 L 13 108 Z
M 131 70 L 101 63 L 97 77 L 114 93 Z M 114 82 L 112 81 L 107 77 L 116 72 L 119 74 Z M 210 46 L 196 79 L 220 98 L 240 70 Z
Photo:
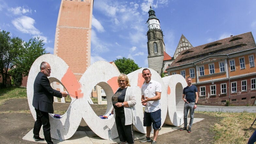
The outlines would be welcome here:
M 161 127 L 161 109 L 151 112 L 151 113 L 144 112 L 143 126 L 151 126 L 151 125 L 153 125 L 154 130 L 160 129 L 160 127 Z

